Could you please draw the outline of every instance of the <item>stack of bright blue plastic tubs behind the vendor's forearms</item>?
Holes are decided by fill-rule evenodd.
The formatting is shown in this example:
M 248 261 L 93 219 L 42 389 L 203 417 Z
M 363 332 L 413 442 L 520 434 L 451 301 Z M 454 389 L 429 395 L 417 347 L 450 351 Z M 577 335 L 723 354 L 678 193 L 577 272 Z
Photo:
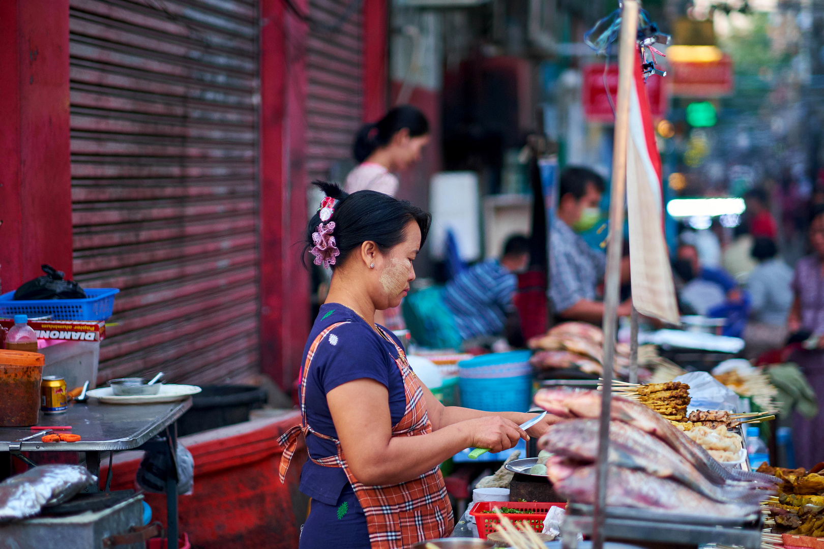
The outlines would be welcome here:
M 486 412 L 527 412 L 531 351 L 498 352 L 458 362 L 461 406 Z

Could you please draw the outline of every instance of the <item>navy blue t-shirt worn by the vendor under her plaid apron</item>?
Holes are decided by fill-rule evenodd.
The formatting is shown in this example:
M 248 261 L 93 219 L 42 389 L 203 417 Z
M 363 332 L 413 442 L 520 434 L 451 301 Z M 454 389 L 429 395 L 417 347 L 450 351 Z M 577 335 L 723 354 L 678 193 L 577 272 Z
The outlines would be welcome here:
M 396 364 L 398 352 L 390 342 L 381 337 L 352 309 L 339 303 L 327 303 L 311 328 L 307 346 L 303 350 L 301 367 L 315 338 L 334 323 L 343 322 L 324 337 L 312 357 L 306 379 L 307 422 L 312 430 L 337 438 L 335 424 L 326 403 L 326 393 L 339 385 L 355 379 L 374 379 L 389 391 L 389 413 L 392 426 L 396 426 L 406 410 L 404 381 Z M 383 327 L 382 327 L 383 328 Z M 400 347 L 400 341 L 386 328 L 383 331 Z M 315 435 L 307 436 L 307 449 L 312 458 L 327 458 L 337 449 L 331 440 Z M 342 468 L 324 467 L 311 459 L 301 472 L 301 491 L 314 500 L 335 505 L 341 490 L 349 484 Z

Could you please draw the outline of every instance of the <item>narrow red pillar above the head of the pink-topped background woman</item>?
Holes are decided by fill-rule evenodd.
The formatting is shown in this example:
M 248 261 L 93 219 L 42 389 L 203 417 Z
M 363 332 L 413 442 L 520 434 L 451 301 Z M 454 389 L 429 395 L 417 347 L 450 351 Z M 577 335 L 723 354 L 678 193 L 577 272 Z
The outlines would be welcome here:
M 389 49 L 388 0 L 363 0 L 363 121 L 386 113 Z

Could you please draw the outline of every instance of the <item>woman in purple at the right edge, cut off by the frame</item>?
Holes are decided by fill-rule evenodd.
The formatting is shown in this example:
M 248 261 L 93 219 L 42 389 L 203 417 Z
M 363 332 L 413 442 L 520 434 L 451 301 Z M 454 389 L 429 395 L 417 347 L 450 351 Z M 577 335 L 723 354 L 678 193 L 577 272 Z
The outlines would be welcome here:
M 805 468 L 824 461 L 824 205 L 812 211 L 810 244 L 813 253 L 795 265 L 795 299 L 788 319 L 790 333 L 804 331 L 818 338 L 814 348 L 796 351 L 791 358 L 818 398 L 816 417 L 808 420 L 796 412 L 793 422 L 796 463 Z

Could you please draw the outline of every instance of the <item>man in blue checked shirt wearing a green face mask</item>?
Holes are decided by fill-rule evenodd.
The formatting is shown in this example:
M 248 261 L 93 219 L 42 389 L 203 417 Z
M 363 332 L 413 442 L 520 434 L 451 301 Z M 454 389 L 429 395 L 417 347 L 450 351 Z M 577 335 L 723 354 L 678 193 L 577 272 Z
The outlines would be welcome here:
M 596 288 L 604 277 L 606 254 L 592 249 L 570 227 L 597 213 L 604 180 L 586 168 L 567 168 L 561 173 L 558 210 L 550 228 L 550 298 L 555 314 L 566 320 L 600 324 L 604 304 L 596 300 Z M 630 280 L 629 258 L 621 263 L 621 281 Z M 618 306 L 628 316 L 632 303 Z

